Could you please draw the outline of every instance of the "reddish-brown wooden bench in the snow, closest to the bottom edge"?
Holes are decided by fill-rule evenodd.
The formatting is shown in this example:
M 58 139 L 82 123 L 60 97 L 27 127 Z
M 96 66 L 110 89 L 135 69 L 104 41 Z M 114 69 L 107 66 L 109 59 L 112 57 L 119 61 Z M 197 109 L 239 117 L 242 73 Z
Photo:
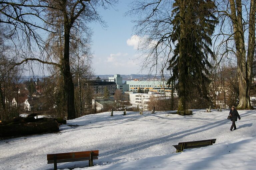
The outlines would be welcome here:
M 89 160 L 89 166 L 93 166 L 93 159 L 98 159 L 99 150 L 47 154 L 47 163 L 54 163 L 54 170 L 57 163 Z

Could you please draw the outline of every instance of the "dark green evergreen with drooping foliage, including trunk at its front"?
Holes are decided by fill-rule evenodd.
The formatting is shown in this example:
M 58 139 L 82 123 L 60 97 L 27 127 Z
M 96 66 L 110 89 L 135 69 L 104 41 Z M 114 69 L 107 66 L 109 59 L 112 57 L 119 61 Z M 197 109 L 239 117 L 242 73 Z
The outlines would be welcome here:
M 186 109 L 186 97 L 193 97 L 190 91 L 197 89 L 200 96 L 207 97 L 207 85 L 210 82 L 207 75 L 211 64 L 208 57 L 214 57 L 210 49 L 210 36 L 217 24 L 212 14 L 215 5 L 209 0 L 188 1 L 177 0 L 173 6 L 173 33 L 170 35 L 175 44 L 174 55 L 169 61 L 172 76 L 168 83 L 178 80 L 178 110 Z

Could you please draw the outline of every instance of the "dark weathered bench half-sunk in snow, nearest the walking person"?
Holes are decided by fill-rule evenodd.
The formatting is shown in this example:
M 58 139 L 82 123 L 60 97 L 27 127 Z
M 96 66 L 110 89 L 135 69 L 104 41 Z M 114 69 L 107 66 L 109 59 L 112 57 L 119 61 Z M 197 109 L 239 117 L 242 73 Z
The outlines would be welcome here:
M 209 140 L 198 140 L 198 141 L 191 141 L 191 142 L 180 142 L 178 145 L 173 145 L 176 148 L 176 153 L 182 152 L 183 149 L 191 149 L 197 147 L 204 147 L 209 146 L 215 143 L 216 139 L 209 139 Z

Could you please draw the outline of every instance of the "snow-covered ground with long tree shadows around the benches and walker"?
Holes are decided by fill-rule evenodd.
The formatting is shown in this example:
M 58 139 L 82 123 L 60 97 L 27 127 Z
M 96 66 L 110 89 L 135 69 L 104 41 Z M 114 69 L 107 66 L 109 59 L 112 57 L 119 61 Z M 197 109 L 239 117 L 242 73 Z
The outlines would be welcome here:
M 75 170 L 254 170 L 256 110 L 238 111 L 237 130 L 230 131 L 229 110 L 193 110 L 191 116 L 171 112 L 110 112 L 67 121 L 60 132 L 0 140 L 0 170 L 50 170 L 46 155 L 99 150 L 93 167 L 88 161 L 58 163 Z M 176 153 L 182 141 L 216 138 L 216 143 Z M 80 168 L 79 168 L 80 167 Z

